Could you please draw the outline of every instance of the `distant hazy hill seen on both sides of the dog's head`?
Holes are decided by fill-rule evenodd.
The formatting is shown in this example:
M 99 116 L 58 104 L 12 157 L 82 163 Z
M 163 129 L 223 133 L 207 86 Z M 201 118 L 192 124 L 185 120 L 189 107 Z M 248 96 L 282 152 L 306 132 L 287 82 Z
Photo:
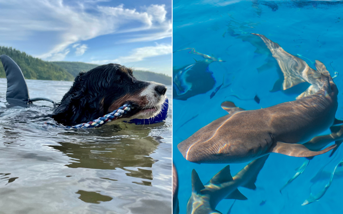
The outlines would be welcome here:
M 54 63 L 65 70 L 67 70 L 69 73 L 71 73 L 73 76 L 76 76 L 80 73 L 80 71 L 89 71 L 99 65 L 96 64 L 89 64 L 84 62 L 51 62 Z M 134 70 L 133 75 L 140 80 L 145 81 L 155 81 L 157 83 L 162 83 L 165 85 L 171 85 L 171 77 L 164 75 L 164 74 L 157 74 L 150 71 L 139 71 Z

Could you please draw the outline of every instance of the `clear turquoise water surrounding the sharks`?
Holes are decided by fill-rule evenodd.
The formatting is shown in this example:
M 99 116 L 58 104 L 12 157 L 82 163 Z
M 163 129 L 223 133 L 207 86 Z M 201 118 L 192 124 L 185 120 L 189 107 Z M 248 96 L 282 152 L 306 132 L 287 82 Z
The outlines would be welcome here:
M 320 60 L 331 76 L 338 72 L 334 78 L 340 90 L 336 118 L 342 119 L 343 2 L 204 0 L 174 1 L 173 4 L 173 77 L 182 68 L 194 64 L 194 59 L 205 64 L 201 55 L 189 53 L 192 49 L 182 50 L 185 48 L 195 48 L 198 53 L 225 61 L 194 65 L 186 77 L 193 82 L 188 96 L 173 91 L 173 161 L 179 177 L 180 213 L 184 214 L 191 195 L 192 169 L 196 169 L 205 184 L 227 164 L 188 162 L 178 151 L 177 144 L 226 115 L 220 106 L 223 101 L 232 101 L 246 110 L 266 108 L 295 100 L 309 86 L 303 83 L 286 91 L 280 90 L 283 76 L 276 60 L 263 41 L 250 33 L 265 35 L 312 68 L 315 68 L 314 61 Z M 211 93 L 222 83 L 210 99 Z M 256 95 L 260 103 L 254 100 Z M 321 135 L 324 134 L 330 134 L 330 130 Z M 342 169 L 338 169 L 331 187 L 320 201 L 301 206 L 311 192 L 317 194 L 324 188 L 333 168 L 343 158 L 342 148 L 331 158 L 329 154 L 312 159 L 304 173 L 282 194 L 280 188 L 294 176 L 295 169 L 305 158 L 271 154 L 259 173 L 257 189 L 238 188 L 248 200 L 237 200 L 231 213 L 342 213 Z M 231 174 L 235 175 L 246 164 L 230 164 Z M 318 172 L 320 178 L 313 179 Z M 222 200 L 216 210 L 227 213 L 233 201 Z M 265 204 L 261 203 L 263 201 Z

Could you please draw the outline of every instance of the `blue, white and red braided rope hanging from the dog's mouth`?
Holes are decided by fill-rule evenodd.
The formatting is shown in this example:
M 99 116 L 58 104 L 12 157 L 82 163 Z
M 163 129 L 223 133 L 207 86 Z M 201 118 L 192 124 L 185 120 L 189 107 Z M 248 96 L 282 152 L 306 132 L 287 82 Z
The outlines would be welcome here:
M 131 111 L 131 108 L 132 108 L 131 104 L 124 104 L 123 106 L 120 106 L 117 110 L 114 110 L 113 112 L 111 112 L 109 114 L 106 114 L 102 117 L 99 117 L 93 121 L 89 121 L 87 123 L 82 123 L 82 124 L 75 125 L 75 126 L 59 126 L 59 125 L 56 125 L 56 124 L 50 123 L 50 122 L 45 122 L 45 124 L 51 125 L 54 127 L 59 127 L 59 128 L 66 128 L 66 129 L 100 127 L 100 126 L 106 124 L 107 122 L 111 122 L 111 121 L 123 116 L 127 112 Z

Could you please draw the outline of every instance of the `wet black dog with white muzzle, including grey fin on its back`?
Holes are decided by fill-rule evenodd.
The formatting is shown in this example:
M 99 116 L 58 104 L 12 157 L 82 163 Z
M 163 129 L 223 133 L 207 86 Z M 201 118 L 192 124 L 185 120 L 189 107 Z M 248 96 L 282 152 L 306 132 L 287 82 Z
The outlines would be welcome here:
M 1 55 L 0 59 L 7 77 L 7 102 L 27 107 L 36 99 L 29 99 L 19 66 L 9 56 Z M 49 116 L 64 125 L 74 125 L 92 121 L 130 103 L 134 108 L 123 117 L 151 118 L 161 112 L 166 90 L 162 84 L 136 79 L 131 68 L 113 63 L 100 65 L 80 72 Z

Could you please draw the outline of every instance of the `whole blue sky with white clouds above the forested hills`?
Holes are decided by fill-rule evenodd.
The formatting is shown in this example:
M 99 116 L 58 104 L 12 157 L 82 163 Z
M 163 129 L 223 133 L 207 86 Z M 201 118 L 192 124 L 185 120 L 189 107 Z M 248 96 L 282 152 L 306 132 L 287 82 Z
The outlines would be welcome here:
M 171 76 L 171 0 L 0 0 L 0 46 Z

